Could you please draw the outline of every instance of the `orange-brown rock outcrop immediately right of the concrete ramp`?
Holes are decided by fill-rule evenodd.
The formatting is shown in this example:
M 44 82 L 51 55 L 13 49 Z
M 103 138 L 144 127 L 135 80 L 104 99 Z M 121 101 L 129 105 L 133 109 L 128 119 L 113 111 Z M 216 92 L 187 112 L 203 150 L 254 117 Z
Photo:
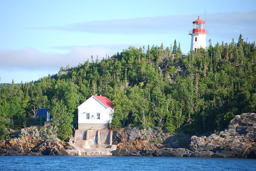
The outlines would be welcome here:
M 140 129 L 127 126 L 113 132 L 113 144 L 117 145 L 117 149 L 112 151 L 112 154 L 163 156 L 159 149 L 182 148 L 188 143 L 190 143 L 190 137 L 184 133 L 173 136 L 168 131 L 157 128 Z

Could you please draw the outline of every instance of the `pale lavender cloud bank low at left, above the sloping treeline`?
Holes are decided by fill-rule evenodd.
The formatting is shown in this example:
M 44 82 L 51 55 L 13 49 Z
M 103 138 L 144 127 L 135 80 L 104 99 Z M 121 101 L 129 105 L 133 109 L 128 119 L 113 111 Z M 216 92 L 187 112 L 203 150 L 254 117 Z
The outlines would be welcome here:
M 61 48 L 61 47 L 59 47 Z M 62 47 L 64 48 L 64 47 Z M 74 46 L 66 47 L 70 51 L 67 54 L 44 53 L 36 49 L 26 48 L 15 51 L 0 51 L 0 68 L 12 69 L 56 69 L 61 66 L 77 66 L 85 62 L 91 56 L 98 56 L 99 59 L 112 55 L 106 48 L 97 46 Z

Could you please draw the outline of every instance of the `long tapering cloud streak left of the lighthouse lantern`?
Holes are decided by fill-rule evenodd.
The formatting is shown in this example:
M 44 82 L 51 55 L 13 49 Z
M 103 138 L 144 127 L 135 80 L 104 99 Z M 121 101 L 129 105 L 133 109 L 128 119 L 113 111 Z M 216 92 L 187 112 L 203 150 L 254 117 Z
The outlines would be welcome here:
M 66 26 L 45 27 L 40 29 L 90 32 L 96 34 L 165 34 L 171 30 L 184 29 L 184 26 L 187 24 L 186 21 L 188 20 L 187 16 L 144 17 L 80 22 Z

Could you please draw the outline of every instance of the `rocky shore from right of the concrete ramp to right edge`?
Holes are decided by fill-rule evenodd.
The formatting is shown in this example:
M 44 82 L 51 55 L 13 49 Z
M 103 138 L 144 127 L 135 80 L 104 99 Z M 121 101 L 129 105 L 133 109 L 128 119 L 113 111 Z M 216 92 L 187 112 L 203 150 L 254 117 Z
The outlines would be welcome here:
M 113 155 L 256 159 L 256 113 L 237 115 L 227 129 L 208 137 L 128 126 L 114 131 L 113 141 L 117 144 Z

